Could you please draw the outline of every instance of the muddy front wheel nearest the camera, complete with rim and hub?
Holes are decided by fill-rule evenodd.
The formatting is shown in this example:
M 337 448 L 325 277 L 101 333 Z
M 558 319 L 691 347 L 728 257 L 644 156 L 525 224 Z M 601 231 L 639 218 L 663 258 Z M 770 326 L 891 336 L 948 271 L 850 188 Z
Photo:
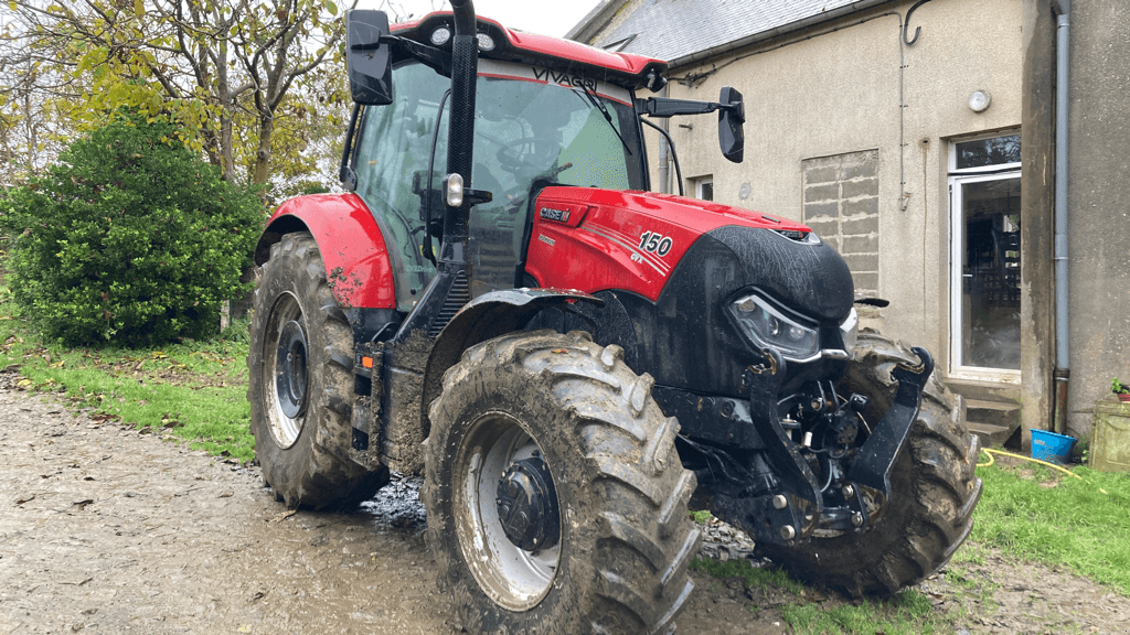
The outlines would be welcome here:
M 701 534 L 653 383 L 583 332 L 503 336 L 444 375 L 423 498 L 441 588 L 470 633 L 673 628 Z M 531 481 L 544 496 L 507 489 Z

